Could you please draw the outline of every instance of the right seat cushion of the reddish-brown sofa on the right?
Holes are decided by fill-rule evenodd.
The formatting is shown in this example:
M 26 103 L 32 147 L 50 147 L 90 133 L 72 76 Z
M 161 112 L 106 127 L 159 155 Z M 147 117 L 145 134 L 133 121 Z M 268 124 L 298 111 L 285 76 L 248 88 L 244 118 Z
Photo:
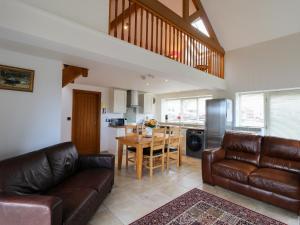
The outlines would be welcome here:
M 300 200 L 300 175 L 272 168 L 261 168 L 249 176 L 257 188 Z

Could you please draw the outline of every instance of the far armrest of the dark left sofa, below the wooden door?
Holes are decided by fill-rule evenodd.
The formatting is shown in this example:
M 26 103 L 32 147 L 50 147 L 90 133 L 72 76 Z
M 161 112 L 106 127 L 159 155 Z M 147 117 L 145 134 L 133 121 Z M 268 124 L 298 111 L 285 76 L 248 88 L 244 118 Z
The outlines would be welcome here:
M 112 154 L 80 155 L 80 169 L 107 168 L 115 169 L 115 156 Z

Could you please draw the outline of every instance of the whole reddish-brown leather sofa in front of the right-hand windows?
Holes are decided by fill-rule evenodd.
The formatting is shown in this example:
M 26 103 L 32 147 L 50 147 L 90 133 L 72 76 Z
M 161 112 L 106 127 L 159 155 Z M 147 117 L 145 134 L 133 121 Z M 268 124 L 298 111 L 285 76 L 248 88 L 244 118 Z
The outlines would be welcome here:
M 205 183 L 300 214 L 300 142 L 226 133 L 222 147 L 202 156 Z

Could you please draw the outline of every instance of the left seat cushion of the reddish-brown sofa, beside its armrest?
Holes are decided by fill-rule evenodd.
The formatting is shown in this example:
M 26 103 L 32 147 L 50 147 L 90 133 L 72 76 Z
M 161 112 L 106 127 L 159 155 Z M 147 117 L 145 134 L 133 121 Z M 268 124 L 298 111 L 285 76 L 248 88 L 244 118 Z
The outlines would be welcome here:
M 238 160 L 223 160 L 212 165 L 212 174 L 248 184 L 248 176 L 257 169 L 250 163 Z

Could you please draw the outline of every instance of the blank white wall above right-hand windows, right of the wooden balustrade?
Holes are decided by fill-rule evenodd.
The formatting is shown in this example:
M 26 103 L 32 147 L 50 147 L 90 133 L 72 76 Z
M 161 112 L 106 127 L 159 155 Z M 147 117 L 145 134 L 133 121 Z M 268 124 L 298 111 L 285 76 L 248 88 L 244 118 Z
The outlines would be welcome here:
M 228 92 L 300 87 L 300 33 L 226 52 Z

